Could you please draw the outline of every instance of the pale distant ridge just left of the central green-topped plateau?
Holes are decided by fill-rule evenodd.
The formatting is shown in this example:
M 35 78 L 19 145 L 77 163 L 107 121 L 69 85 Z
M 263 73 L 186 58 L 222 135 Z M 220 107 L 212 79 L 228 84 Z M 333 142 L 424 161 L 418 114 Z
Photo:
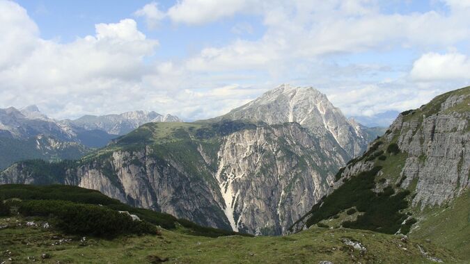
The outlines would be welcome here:
M 182 122 L 174 115 L 160 115 L 155 112 L 133 111 L 120 115 L 85 115 L 75 120 L 64 120 L 64 124 L 71 124 L 86 131 L 100 130 L 111 135 L 125 135 L 139 126 L 150 122 Z

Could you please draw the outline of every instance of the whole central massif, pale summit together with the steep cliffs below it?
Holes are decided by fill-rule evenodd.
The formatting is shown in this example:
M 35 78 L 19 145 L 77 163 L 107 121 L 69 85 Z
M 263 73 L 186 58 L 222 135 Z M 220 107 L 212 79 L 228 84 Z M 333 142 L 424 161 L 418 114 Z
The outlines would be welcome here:
M 127 127 L 107 125 L 116 116 L 97 119 L 73 124 Z M 370 140 L 318 90 L 280 85 L 221 117 L 140 126 L 75 163 L 41 165 L 45 171 L 17 163 L 0 183 L 79 185 L 198 224 L 279 235 L 328 193 L 337 170 Z

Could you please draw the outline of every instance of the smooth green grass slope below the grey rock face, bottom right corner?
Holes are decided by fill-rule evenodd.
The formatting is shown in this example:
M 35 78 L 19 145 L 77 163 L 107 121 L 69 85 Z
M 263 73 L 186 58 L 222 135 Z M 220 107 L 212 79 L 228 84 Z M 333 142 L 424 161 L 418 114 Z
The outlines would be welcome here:
M 446 206 L 419 213 L 410 238 L 429 239 L 470 261 L 470 190 Z

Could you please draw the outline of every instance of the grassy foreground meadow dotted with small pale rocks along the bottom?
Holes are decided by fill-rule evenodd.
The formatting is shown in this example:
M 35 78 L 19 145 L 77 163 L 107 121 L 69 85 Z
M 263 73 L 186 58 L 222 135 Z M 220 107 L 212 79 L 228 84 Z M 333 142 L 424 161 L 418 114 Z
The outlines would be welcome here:
M 24 263 L 34 257 L 43 263 L 151 263 L 166 258 L 167 263 L 431 263 L 420 253 L 420 245 L 431 256 L 463 263 L 451 251 L 430 242 L 372 231 L 313 228 L 290 236 L 207 238 L 161 230 L 161 236 L 83 240 L 64 236 L 54 228 L 26 226 L 31 220 L 41 222 L 0 217 L 0 226 L 10 225 L 0 229 L 0 261 L 12 258 L 13 263 Z M 360 242 L 366 251 L 345 245 L 345 239 Z M 42 254 L 50 258 L 41 260 Z

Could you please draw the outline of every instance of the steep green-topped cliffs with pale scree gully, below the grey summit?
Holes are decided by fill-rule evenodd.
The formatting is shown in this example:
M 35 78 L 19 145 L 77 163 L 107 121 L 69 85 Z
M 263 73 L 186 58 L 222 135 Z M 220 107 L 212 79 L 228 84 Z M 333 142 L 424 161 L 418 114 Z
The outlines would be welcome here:
M 155 123 L 78 162 L 42 165 L 54 170 L 17 163 L 0 183 L 79 185 L 198 224 L 276 235 L 327 192 L 345 163 L 318 141 L 297 123 Z

